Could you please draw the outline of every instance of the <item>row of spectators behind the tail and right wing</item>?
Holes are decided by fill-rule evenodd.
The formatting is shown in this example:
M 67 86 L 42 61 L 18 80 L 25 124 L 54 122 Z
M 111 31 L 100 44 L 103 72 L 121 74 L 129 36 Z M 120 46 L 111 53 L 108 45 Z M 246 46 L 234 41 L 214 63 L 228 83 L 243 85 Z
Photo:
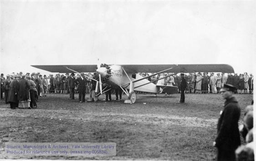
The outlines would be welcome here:
M 140 73 L 142 77 L 149 76 L 148 73 Z M 166 77 L 170 75 L 169 77 Z M 166 78 L 164 78 L 166 77 Z M 157 85 L 176 86 L 180 92 L 181 76 L 173 73 L 161 73 L 157 76 L 148 78 L 149 81 L 156 81 Z M 225 83 L 236 87 L 235 93 L 253 93 L 253 75 L 237 73 L 185 73 L 184 78 L 187 83 L 185 93 L 219 93 L 220 88 Z

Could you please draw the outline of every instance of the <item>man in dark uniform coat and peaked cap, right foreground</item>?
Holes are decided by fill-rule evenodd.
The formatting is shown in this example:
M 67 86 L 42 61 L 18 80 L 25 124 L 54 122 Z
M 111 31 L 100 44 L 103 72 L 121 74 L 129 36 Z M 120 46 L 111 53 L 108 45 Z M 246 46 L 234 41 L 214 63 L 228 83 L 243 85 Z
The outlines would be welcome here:
M 217 124 L 217 137 L 213 146 L 218 149 L 217 161 L 236 161 L 235 151 L 241 145 L 238 120 L 241 109 L 233 93 L 236 90 L 231 84 L 224 84 L 220 93 L 226 100 Z

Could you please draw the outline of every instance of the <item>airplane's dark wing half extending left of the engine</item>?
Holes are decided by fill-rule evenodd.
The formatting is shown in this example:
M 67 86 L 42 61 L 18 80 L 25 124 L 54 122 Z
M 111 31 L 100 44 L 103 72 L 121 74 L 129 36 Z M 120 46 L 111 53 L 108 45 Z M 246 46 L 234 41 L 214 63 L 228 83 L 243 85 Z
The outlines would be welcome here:
M 67 68 L 73 69 L 77 72 L 94 72 L 97 65 L 31 65 L 32 67 L 46 70 L 53 73 L 71 73 Z

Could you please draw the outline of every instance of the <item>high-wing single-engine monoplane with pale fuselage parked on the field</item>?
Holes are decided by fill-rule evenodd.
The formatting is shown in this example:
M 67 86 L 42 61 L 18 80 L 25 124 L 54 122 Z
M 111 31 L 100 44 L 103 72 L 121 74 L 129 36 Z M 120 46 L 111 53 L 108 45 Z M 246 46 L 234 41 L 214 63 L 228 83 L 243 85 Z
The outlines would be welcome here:
M 234 73 L 234 69 L 227 64 L 145 64 L 145 65 L 31 65 L 32 67 L 43 69 L 52 73 L 93 73 L 98 76 L 98 80 L 86 76 L 96 81 L 96 88 L 92 90 L 92 98 L 96 102 L 98 97 L 111 90 L 111 88 L 121 88 L 128 96 L 125 103 L 135 103 L 137 96 L 135 91 L 146 93 L 178 93 L 178 87 L 169 85 L 157 85 L 154 82 L 169 77 L 177 73 L 195 73 L 195 72 L 222 72 Z M 147 77 L 142 77 L 138 73 L 154 73 Z M 163 78 L 149 81 L 147 78 L 160 73 L 173 73 Z M 105 79 L 107 86 L 111 88 L 102 89 L 102 78 Z

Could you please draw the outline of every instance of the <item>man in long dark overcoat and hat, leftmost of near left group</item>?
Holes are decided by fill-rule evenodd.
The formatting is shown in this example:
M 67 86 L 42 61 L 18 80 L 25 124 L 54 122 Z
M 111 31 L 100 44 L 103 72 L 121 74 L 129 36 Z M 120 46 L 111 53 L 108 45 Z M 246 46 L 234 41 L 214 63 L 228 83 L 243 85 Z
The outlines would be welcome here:
M 20 75 L 15 75 L 14 80 L 10 83 L 10 91 L 7 98 L 7 102 L 10 102 L 10 108 L 15 109 L 19 106 L 18 92 L 19 92 L 19 79 Z

